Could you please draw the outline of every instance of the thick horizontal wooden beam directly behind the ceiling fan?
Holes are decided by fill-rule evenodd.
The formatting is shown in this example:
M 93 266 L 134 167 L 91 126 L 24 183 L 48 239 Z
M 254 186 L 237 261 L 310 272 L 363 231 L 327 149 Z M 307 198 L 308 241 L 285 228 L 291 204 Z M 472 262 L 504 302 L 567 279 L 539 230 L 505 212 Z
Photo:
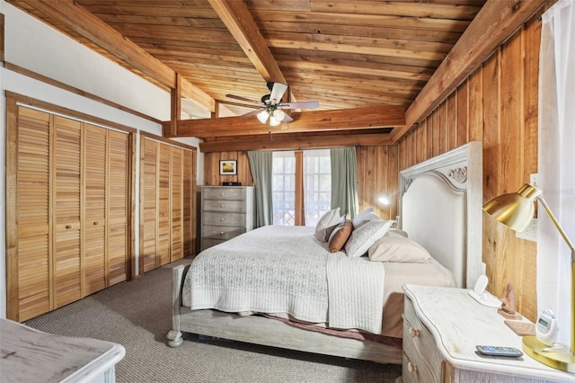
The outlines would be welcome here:
M 403 106 L 376 106 L 337 111 L 290 112 L 294 119 L 282 123 L 274 130 L 287 133 L 309 131 L 337 131 L 350 129 L 378 129 L 402 127 L 405 124 Z M 259 135 L 270 130 L 269 125 L 261 124 L 255 117 L 226 117 L 221 119 L 179 120 L 172 137 L 224 137 Z M 164 132 L 168 134 L 170 121 L 164 121 Z

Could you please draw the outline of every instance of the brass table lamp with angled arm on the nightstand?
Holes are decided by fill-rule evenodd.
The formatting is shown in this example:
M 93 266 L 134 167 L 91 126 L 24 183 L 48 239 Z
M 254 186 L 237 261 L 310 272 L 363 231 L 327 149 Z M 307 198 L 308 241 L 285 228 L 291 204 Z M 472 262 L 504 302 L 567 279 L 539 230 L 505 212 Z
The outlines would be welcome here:
M 535 186 L 526 183 L 517 192 L 502 194 L 485 203 L 483 210 L 505 226 L 523 231 L 535 213 L 534 202 L 539 200 L 571 249 L 571 350 L 568 347 L 548 347 L 539 342 L 535 335 L 526 335 L 523 337 L 523 351 L 535 361 L 540 361 L 553 369 L 575 373 L 575 247 L 547 206 L 541 192 Z

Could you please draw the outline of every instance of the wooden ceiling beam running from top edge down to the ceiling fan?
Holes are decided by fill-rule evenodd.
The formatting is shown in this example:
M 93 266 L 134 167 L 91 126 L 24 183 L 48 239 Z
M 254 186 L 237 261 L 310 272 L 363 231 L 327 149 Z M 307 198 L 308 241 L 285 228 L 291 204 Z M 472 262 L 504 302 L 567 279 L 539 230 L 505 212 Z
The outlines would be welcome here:
M 288 84 L 243 1 L 208 0 L 266 82 Z

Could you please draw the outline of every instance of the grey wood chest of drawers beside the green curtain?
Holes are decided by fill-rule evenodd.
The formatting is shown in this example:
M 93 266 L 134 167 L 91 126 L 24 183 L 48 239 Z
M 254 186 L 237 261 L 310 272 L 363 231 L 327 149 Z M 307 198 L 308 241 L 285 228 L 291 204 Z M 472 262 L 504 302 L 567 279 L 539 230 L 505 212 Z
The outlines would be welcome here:
M 200 250 L 253 229 L 253 186 L 202 186 Z

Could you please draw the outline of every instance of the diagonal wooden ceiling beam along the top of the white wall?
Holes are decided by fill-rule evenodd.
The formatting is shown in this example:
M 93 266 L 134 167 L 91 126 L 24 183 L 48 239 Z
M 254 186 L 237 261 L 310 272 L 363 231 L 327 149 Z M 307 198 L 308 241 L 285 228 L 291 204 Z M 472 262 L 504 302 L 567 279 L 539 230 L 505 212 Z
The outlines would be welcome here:
M 110 52 L 125 62 L 128 67 L 137 68 L 146 76 L 170 89 L 176 88 L 176 73 L 173 69 L 165 66 L 160 60 L 146 53 L 144 49 L 132 41 L 125 39 L 118 31 L 102 22 L 83 6 L 75 4 L 73 0 L 33 1 L 30 6 L 54 22 L 66 25 L 70 30 L 92 41 L 101 49 Z M 210 111 L 215 110 L 216 101 L 184 78 L 181 79 L 181 95 L 198 102 Z

